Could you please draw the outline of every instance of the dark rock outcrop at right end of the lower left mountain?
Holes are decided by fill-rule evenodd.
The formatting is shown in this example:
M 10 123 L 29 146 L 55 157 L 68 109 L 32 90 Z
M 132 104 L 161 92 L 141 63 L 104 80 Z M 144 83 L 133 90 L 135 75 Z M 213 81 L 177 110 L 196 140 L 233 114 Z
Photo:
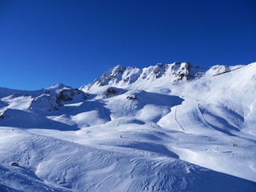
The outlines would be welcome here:
M 89 97 L 89 94 L 86 94 L 82 90 L 78 90 L 78 89 L 62 90 L 57 95 L 58 100 L 63 102 L 71 102 L 73 100 L 83 100 L 88 97 Z

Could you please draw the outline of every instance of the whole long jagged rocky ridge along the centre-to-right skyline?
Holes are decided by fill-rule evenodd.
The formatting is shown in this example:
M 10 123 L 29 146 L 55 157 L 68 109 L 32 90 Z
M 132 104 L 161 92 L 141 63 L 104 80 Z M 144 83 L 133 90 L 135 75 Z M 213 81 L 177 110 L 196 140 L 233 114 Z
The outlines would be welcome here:
M 202 76 L 223 74 L 240 67 L 242 66 L 213 66 L 210 69 L 204 69 L 200 66 L 193 66 L 190 62 L 158 63 L 156 66 L 149 66 L 143 69 L 130 66 L 115 66 L 113 69 L 102 74 L 101 78 L 94 80 L 94 82 L 87 86 L 80 87 L 80 90 L 94 90 L 101 86 L 122 88 L 156 80 L 169 83 L 188 82 Z

